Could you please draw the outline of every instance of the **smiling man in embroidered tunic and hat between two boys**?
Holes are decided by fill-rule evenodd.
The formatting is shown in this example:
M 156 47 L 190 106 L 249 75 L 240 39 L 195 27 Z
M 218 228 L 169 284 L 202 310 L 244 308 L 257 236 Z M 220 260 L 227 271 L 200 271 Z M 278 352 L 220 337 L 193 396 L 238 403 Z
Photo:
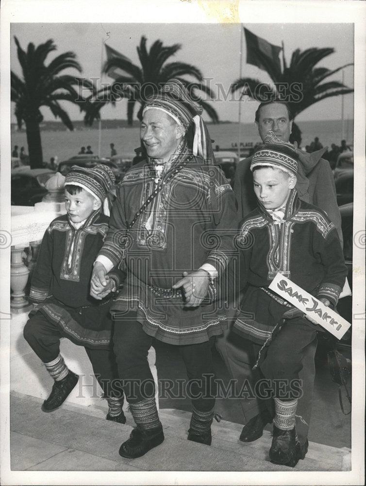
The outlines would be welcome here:
M 221 334 L 219 282 L 233 254 L 235 198 L 213 165 L 211 140 L 183 84 L 170 80 L 145 104 L 147 159 L 125 175 L 91 281 L 98 296 L 122 261 L 114 350 L 137 427 L 119 454 L 139 457 L 164 440 L 146 360 L 152 339 L 179 346 L 192 391 L 188 440 L 211 444 L 215 389 L 211 338 Z M 183 278 L 182 278 L 183 277 Z

